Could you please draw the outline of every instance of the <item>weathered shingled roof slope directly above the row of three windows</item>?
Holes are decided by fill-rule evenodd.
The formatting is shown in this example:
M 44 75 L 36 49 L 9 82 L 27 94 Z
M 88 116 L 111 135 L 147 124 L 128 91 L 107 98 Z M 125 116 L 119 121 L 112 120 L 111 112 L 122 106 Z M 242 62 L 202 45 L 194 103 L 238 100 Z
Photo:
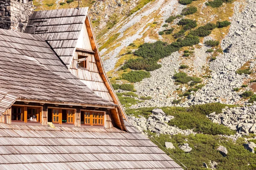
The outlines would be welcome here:
M 4 29 L 0 29 L 0 89 L 17 99 L 116 106 L 71 74 L 41 37 Z

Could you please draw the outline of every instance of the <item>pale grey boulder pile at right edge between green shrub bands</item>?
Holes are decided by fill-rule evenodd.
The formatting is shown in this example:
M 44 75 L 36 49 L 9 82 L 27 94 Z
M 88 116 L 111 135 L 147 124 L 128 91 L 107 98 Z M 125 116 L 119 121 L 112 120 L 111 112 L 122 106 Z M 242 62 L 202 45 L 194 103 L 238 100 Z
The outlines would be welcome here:
M 222 113 L 210 113 L 207 116 L 212 122 L 225 125 L 236 130 L 240 134 L 256 133 L 256 105 L 244 106 L 242 108 L 228 108 Z

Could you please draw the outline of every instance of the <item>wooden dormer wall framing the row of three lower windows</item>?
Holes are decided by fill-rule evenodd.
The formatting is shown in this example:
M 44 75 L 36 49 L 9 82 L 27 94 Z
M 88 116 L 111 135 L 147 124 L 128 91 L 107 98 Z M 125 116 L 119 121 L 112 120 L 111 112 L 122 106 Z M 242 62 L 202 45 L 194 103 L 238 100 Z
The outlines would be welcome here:
M 68 105 L 54 105 L 54 104 L 44 104 L 44 105 L 41 105 L 39 103 L 33 103 L 33 102 L 30 102 L 28 104 L 25 104 L 24 102 L 15 102 L 14 105 L 22 105 L 22 106 L 40 106 L 42 107 L 41 109 L 41 124 L 42 125 L 47 125 L 47 122 L 48 122 L 48 108 L 62 108 L 62 109 L 74 109 L 75 110 L 75 115 L 74 115 L 74 125 L 76 127 L 80 127 L 81 126 L 81 121 L 80 121 L 80 118 L 81 118 L 81 110 L 84 110 L 84 111 L 103 111 L 105 112 L 105 124 L 104 124 L 104 127 L 105 128 L 111 128 L 115 125 L 115 122 L 113 119 L 112 119 L 112 116 L 111 116 L 111 111 L 109 111 L 108 109 L 106 108 L 93 108 L 93 107 L 86 107 L 86 108 L 83 108 L 81 106 L 73 106 L 73 107 L 70 107 Z M 2 116 L 0 116 L 0 123 L 7 123 L 7 124 L 11 124 L 11 108 L 9 108 Z

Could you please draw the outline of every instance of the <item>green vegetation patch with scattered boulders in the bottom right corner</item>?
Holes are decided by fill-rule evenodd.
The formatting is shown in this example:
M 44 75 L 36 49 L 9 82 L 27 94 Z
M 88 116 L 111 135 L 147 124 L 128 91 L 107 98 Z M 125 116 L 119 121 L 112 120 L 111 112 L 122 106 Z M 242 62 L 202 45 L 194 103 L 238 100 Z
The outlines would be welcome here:
M 251 153 L 244 149 L 242 138 L 237 139 L 234 143 L 231 139 L 223 136 L 213 136 L 207 134 L 194 135 L 155 135 L 151 134 L 149 137 L 152 142 L 158 145 L 163 151 L 166 152 L 166 148 L 163 146 L 165 142 L 172 142 L 175 149 L 168 149 L 166 154 L 171 154 L 171 158 L 175 157 L 184 165 L 187 170 L 206 170 L 203 167 L 205 162 L 210 169 L 210 161 L 218 162 L 216 170 L 255 170 L 256 169 L 256 154 Z M 187 141 L 185 141 L 185 139 Z M 241 141 L 241 142 L 240 142 Z M 180 150 L 179 145 L 188 143 L 192 150 L 190 153 L 184 153 Z M 216 148 L 222 145 L 227 148 L 228 153 L 226 157 L 223 157 Z M 177 162 L 180 164 L 179 162 Z M 182 164 L 180 164 L 181 167 Z M 184 168 L 186 169 L 186 168 Z

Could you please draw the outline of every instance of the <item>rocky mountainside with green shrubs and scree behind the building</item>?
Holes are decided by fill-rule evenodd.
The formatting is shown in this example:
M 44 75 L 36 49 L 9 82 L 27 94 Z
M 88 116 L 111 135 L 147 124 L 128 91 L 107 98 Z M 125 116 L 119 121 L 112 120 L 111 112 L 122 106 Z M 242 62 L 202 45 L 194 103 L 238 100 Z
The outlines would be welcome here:
M 34 0 L 35 10 L 78 1 Z M 188 170 L 256 170 L 256 2 L 87 0 L 129 121 Z

